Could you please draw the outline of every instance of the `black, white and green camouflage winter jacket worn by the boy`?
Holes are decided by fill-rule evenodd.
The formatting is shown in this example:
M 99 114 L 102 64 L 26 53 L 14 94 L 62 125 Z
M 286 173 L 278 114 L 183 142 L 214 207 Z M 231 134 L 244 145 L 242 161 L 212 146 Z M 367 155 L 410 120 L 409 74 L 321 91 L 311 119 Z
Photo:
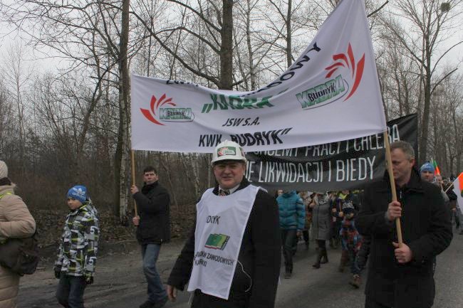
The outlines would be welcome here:
M 91 201 L 68 213 L 54 270 L 71 276 L 93 275 L 99 233 L 98 211 Z

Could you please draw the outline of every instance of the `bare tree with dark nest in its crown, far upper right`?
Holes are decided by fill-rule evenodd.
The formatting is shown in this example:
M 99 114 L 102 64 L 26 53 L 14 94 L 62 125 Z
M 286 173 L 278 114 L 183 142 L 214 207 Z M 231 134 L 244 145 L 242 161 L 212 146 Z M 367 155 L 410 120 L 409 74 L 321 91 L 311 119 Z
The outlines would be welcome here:
M 443 80 L 456 71 L 454 68 L 447 73 L 440 73 L 439 68 L 449 51 L 463 43 L 457 41 L 449 47 L 444 46 L 452 35 L 452 30 L 462 23 L 462 13 L 461 0 L 397 0 L 384 19 L 387 31 L 405 48 L 420 70 L 422 94 L 419 96 L 418 106 L 422 109 L 422 118 L 419 161 L 427 158 L 432 93 Z M 401 25 L 395 16 L 405 19 L 406 31 L 405 25 Z M 439 53 L 439 48 L 444 49 Z M 439 76 L 436 77 L 437 75 Z

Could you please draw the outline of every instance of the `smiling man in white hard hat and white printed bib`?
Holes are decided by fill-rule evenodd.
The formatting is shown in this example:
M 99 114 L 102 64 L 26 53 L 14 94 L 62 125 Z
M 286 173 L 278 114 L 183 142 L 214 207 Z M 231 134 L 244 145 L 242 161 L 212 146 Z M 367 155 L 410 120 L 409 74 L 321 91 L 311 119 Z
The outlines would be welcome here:
M 170 273 L 167 294 L 174 301 L 177 290 L 184 290 L 189 282 L 193 308 L 273 308 L 281 262 L 276 201 L 244 178 L 246 159 L 239 144 L 225 141 L 217 145 L 212 156 L 212 169 L 218 185 L 204 192 L 197 204 L 195 225 Z M 240 197 L 243 195 L 247 198 Z M 208 200 L 212 202 L 208 203 Z M 243 206 L 249 209 L 247 216 L 240 223 L 236 223 L 238 219 L 230 219 L 230 228 L 222 228 L 222 224 L 227 223 L 229 212 Z M 214 217 L 217 218 L 209 219 L 209 216 L 202 215 L 204 208 L 215 211 Z M 232 218 L 236 217 L 242 218 L 239 213 Z M 204 228 L 215 229 L 202 233 Z M 227 236 L 228 242 L 209 243 L 210 233 L 230 236 Z M 202 243 L 207 236 L 202 234 L 209 235 L 206 245 Z M 241 242 L 237 240 L 236 245 L 231 245 L 234 234 L 242 236 Z M 230 247 L 234 249 L 231 249 L 229 257 L 223 257 Z M 217 257 L 219 254 L 222 255 Z M 224 273 L 230 277 L 227 282 L 221 281 Z M 222 285 L 229 286 L 228 292 L 217 291 Z

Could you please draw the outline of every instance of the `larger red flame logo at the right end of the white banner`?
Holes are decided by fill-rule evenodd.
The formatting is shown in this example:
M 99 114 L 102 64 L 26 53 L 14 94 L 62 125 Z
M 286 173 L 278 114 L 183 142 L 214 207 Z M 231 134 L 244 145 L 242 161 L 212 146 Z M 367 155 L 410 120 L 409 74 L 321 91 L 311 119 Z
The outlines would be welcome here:
M 330 78 L 333 73 L 335 73 L 338 68 L 343 67 L 347 68 L 350 70 L 352 73 L 352 78 L 354 80 L 353 86 L 350 89 L 350 92 L 347 97 L 345 97 L 345 100 L 348 100 L 349 97 L 351 97 L 355 91 L 358 88 L 358 85 L 360 85 L 360 80 L 362 80 L 362 75 L 363 75 L 363 68 L 365 66 L 365 53 L 363 53 L 362 58 L 357 63 L 357 66 L 355 67 L 355 58 L 353 55 L 352 51 L 352 46 L 348 47 L 347 55 L 345 53 L 338 53 L 337 55 L 333 55 L 333 61 L 334 64 L 328 66 L 328 68 L 325 68 L 325 70 L 328 70 L 328 73 L 326 74 L 326 78 Z

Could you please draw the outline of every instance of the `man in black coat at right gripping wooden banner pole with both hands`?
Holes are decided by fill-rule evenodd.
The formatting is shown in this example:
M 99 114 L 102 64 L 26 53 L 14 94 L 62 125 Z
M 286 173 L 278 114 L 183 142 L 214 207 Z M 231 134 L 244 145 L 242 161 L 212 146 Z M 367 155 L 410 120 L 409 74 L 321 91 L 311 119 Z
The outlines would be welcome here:
M 432 307 L 432 260 L 452 240 L 450 211 L 439 188 L 420 179 L 410 144 L 394 142 L 390 152 L 397 201 L 391 201 L 386 174 L 365 189 L 356 221 L 360 233 L 372 240 L 365 308 Z M 395 218 L 402 225 L 402 245 Z

